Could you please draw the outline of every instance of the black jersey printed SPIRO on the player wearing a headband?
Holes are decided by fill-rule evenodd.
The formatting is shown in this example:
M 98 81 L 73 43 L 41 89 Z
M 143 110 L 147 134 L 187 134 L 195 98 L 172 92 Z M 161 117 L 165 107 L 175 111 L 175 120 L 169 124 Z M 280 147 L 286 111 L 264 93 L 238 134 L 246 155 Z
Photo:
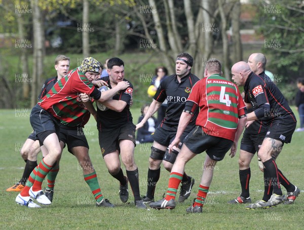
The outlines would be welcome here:
M 168 100 L 166 115 L 160 124 L 163 129 L 168 131 L 177 131 L 178 122 L 189 93 L 191 92 L 192 87 L 199 80 L 200 79 L 196 75 L 189 73 L 180 80 L 180 83 L 177 81 L 176 74 L 168 76 L 161 82 L 156 94 L 154 95 L 154 99 L 158 102 L 164 102 L 165 99 Z M 199 109 L 196 109 L 194 116 L 185 131 L 191 131 L 195 127 L 198 113 Z

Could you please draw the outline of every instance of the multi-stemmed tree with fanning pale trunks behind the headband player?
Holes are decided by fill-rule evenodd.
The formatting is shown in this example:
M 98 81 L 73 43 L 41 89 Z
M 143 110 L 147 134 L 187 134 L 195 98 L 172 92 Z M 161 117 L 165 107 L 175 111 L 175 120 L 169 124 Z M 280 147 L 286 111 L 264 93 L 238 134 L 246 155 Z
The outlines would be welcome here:
M 188 0 L 184 0 L 182 5 L 181 3 L 173 4 L 172 0 L 163 0 L 158 3 L 155 0 L 149 0 L 148 5 L 141 0 L 136 2 L 137 6 L 143 9 L 143 13 L 139 13 L 138 7 L 134 8 L 143 25 L 145 37 L 151 45 L 158 42 L 159 45 L 155 46 L 155 51 L 161 55 L 169 72 L 174 72 L 172 60 L 175 60 L 176 55 L 188 52 L 195 60 L 194 72 L 197 75 L 202 75 L 204 71 L 202 60 L 208 59 L 213 49 L 213 46 L 209 46 L 212 34 L 202 31 L 202 18 L 205 17 L 206 22 L 210 22 L 211 17 L 209 16 L 214 12 L 213 7 L 208 8 L 209 2 L 202 0 L 200 3 L 196 3 L 195 7 Z M 183 15 L 179 15 L 179 18 L 176 17 L 176 7 L 184 9 Z M 207 12 L 204 7 L 208 8 L 210 12 Z M 193 9 L 199 10 L 196 10 L 194 14 Z M 154 28 L 148 27 L 147 17 L 144 17 L 143 14 L 146 14 L 147 17 L 149 16 L 147 14 L 152 15 Z M 185 17 L 186 24 L 183 25 L 179 20 L 181 17 Z M 151 38 L 150 32 L 153 29 L 157 34 L 157 41 Z M 185 31 L 186 33 L 184 33 Z

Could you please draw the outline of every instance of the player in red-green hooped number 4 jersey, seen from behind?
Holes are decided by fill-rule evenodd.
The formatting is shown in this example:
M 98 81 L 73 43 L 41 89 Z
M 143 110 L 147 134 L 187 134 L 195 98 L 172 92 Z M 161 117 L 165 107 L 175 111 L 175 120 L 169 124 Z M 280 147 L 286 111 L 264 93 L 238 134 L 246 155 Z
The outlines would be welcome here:
M 229 149 L 231 149 L 230 156 L 235 156 L 238 140 L 246 123 L 246 106 L 238 87 L 223 78 L 221 74 L 221 63 L 218 60 L 206 62 L 204 78 L 193 87 L 186 101 L 176 137 L 170 144 L 169 151 L 172 151 L 172 147 L 180 142 L 181 134 L 198 106 L 200 112 L 196 127 L 184 138 L 184 144 L 170 173 L 166 197 L 158 202 L 150 203 L 150 207 L 175 208 L 175 196 L 185 164 L 206 151 L 207 156 L 197 198 L 186 210 L 189 213 L 201 213 L 215 164 L 224 158 Z

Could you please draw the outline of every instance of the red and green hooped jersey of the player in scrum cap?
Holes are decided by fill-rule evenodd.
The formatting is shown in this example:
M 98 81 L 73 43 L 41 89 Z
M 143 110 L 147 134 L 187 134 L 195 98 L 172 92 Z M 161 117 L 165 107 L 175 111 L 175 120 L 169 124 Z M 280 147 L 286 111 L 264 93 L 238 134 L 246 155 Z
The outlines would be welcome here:
M 78 68 L 59 80 L 38 104 L 68 126 L 84 126 L 90 114 L 81 102 L 80 93 L 90 95 L 95 87 Z

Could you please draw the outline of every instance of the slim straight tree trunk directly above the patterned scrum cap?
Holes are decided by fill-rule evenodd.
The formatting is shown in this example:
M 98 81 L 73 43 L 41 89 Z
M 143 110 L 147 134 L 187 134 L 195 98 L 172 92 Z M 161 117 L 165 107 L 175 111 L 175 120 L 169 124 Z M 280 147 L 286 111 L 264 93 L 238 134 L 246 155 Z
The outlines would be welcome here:
M 89 39 L 89 1 L 84 0 L 83 2 L 83 23 L 82 28 L 82 39 L 83 39 L 83 56 L 84 58 L 90 56 L 90 39 Z

